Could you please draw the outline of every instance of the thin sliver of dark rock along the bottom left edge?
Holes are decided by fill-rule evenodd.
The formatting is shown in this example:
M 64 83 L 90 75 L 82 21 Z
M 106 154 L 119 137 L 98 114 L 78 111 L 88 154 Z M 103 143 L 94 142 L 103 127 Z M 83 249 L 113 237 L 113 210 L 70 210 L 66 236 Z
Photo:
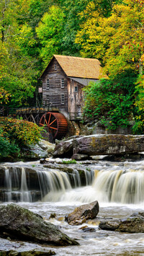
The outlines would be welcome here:
M 10 251 L 0 251 L 0 256 L 48 256 L 48 255 L 55 255 L 53 251 L 25 251 L 25 252 L 17 252 L 14 250 Z

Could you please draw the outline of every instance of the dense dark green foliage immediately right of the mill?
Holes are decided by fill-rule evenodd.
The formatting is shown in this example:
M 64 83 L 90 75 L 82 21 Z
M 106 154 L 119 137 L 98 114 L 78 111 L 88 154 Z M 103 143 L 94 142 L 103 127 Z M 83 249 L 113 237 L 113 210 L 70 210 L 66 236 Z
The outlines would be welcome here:
M 132 115 L 135 74 L 125 74 L 115 79 L 102 79 L 84 88 L 84 118 L 99 119 L 107 128 L 126 127 Z

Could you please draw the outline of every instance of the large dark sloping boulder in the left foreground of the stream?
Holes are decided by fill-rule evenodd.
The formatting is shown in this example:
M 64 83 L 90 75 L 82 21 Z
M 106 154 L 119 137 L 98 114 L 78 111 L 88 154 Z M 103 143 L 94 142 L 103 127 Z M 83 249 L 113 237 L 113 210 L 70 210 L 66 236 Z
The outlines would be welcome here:
M 40 215 L 14 203 L 0 206 L 0 236 L 56 245 L 78 244 Z

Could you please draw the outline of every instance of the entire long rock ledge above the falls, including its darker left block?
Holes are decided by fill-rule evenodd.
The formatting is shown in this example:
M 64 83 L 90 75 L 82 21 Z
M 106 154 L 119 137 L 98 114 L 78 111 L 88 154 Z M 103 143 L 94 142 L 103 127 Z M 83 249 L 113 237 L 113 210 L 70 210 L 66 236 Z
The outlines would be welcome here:
M 87 156 L 124 155 L 144 151 L 144 136 L 122 134 L 91 135 L 62 141 L 55 146 L 54 156 L 71 157 L 73 154 Z

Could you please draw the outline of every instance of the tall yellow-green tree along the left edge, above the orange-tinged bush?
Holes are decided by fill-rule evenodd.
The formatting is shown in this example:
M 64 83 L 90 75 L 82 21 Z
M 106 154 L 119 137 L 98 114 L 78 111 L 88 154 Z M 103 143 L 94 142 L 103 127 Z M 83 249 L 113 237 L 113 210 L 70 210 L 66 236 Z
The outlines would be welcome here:
M 37 74 L 35 58 L 29 56 L 28 50 L 22 45 L 24 37 L 27 49 L 32 45 L 32 33 L 28 40 L 30 30 L 27 29 L 27 37 L 24 26 L 19 26 L 17 22 L 19 1 L 3 0 L 0 6 L 0 88 L 9 94 L 11 107 L 27 104 L 28 98 L 33 97 Z

